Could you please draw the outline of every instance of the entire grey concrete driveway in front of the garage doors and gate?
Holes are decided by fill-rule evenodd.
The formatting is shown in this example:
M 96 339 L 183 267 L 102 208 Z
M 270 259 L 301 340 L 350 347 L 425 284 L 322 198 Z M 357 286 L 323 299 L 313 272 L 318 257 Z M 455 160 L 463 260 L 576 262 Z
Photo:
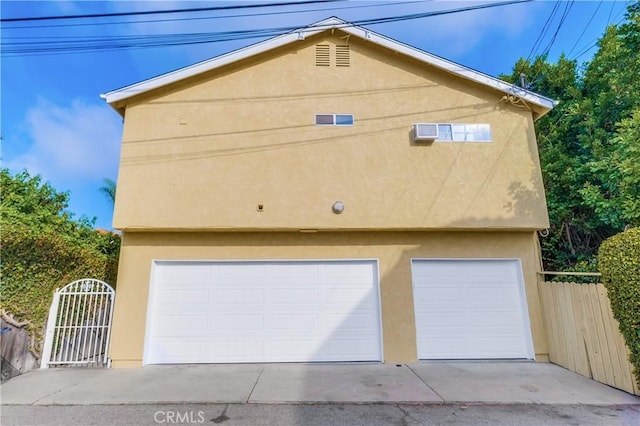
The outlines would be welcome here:
M 166 403 L 583 404 L 640 398 L 534 362 L 163 365 L 36 370 L 2 384 L 3 405 Z

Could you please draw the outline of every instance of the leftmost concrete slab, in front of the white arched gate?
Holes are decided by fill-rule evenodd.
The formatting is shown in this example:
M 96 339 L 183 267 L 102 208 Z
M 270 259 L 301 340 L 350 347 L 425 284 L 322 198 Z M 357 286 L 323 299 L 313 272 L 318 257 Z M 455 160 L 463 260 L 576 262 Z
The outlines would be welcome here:
M 64 389 L 91 380 L 103 371 L 106 370 L 89 368 L 32 370 L 16 376 L 0 386 L 2 404 L 31 405 Z

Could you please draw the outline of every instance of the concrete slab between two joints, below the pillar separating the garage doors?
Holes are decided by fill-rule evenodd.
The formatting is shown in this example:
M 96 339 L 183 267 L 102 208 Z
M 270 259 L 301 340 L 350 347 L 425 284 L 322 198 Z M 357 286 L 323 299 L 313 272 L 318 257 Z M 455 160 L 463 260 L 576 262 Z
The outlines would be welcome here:
M 389 364 L 265 365 L 249 402 L 436 402 L 406 366 Z

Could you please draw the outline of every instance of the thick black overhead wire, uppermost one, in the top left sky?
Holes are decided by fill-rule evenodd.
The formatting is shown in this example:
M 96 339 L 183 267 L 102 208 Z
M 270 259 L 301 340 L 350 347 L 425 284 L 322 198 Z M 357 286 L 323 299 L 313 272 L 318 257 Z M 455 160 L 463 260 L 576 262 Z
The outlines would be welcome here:
M 255 9 L 260 7 L 272 6 L 295 6 L 301 4 L 312 3 L 333 3 L 344 0 L 305 0 L 290 1 L 285 3 L 262 3 L 262 4 L 237 4 L 233 6 L 210 6 L 210 7 L 194 7 L 189 9 L 170 9 L 170 10 L 144 10 L 138 12 L 114 12 L 114 13 L 92 13 L 84 15 L 58 15 L 58 16 L 32 16 L 23 18 L 2 18 L 0 22 L 29 22 L 29 21 L 52 21 L 60 19 L 86 19 L 86 18 L 111 18 L 115 16 L 136 16 L 136 15 L 160 15 L 166 13 L 189 13 L 189 12 L 206 12 L 214 10 L 232 10 L 232 9 Z

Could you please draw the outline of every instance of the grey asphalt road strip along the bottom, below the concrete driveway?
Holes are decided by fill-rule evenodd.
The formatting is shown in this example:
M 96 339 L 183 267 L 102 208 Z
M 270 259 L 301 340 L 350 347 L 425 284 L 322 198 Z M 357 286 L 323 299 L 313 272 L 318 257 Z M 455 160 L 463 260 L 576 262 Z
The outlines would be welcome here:
M 167 404 L 3 406 L 9 425 L 597 425 L 638 426 L 640 406 Z

